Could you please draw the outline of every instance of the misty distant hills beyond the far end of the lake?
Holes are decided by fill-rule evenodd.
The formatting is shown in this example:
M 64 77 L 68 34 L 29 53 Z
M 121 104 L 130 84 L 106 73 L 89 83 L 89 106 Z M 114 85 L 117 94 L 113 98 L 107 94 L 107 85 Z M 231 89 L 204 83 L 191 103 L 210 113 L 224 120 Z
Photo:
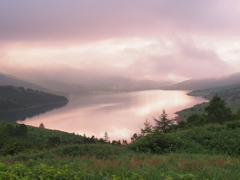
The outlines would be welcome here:
M 173 84 L 172 81 L 151 81 L 151 80 L 134 80 L 122 77 L 110 77 L 103 79 L 101 82 L 89 82 L 88 84 L 68 83 L 52 80 L 35 80 L 34 83 L 42 87 L 59 93 L 66 94 L 96 94 L 107 92 L 130 92 L 160 89 L 166 85 Z

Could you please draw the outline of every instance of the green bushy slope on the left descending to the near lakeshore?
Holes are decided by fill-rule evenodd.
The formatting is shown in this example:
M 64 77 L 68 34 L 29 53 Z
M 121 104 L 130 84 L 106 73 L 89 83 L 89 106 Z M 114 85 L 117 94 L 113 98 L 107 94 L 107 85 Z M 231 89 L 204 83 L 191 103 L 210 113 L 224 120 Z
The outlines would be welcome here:
M 91 138 L 83 137 L 74 133 L 26 126 L 24 124 L 19 125 L 14 122 L 0 121 L 0 127 L 2 127 L 2 131 L 0 131 L 0 155 L 13 155 L 26 151 L 41 151 L 64 145 L 110 144 L 94 136 Z M 16 129 L 18 133 L 9 136 L 9 129 L 7 127 Z M 25 128 L 27 128 L 27 132 Z M 24 129 L 25 131 L 23 131 Z M 22 136 L 23 134 L 24 136 Z M 121 141 L 113 141 L 113 144 L 121 145 Z M 126 145 L 127 141 L 124 140 L 123 144 Z

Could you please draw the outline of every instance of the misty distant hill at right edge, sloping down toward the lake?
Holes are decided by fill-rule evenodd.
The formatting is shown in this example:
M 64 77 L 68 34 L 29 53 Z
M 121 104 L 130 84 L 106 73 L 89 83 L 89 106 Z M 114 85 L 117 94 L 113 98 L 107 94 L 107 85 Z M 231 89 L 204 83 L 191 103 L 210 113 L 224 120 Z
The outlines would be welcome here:
M 240 73 L 231 74 L 221 78 L 211 79 L 190 79 L 171 86 L 167 86 L 165 90 L 200 90 L 209 89 L 219 86 L 228 86 L 240 83 Z

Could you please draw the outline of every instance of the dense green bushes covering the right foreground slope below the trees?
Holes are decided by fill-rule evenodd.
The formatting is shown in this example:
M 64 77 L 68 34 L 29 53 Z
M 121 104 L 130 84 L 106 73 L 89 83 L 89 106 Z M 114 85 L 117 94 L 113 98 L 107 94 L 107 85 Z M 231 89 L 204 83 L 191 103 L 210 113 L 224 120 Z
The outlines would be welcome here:
M 240 154 L 240 121 L 225 125 L 208 124 L 187 130 L 162 133 L 154 131 L 141 136 L 128 147 L 135 151 L 151 153 L 206 153 Z

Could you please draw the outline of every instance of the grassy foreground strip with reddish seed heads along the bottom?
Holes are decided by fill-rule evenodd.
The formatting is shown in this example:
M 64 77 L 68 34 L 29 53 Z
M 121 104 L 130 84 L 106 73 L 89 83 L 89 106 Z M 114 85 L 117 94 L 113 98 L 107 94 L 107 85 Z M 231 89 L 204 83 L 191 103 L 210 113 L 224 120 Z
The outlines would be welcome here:
M 69 145 L 0 157 L 2 179 L 237 180 L 238 158 L 220 155 L 137 153 L 126 146 Z

